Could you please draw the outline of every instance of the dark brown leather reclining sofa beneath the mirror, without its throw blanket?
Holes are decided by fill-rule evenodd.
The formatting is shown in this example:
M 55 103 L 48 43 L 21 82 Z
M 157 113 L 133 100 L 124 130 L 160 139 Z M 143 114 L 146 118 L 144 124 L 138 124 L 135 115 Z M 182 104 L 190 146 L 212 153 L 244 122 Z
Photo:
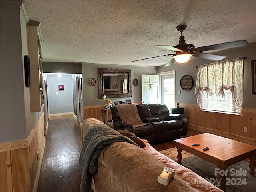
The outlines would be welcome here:
M 134 128 L 128 122 L 122 122 L 114 106 L 111 108 L 114 129 L 127 129 L 150 144 L 170 141 L 187 134 L 187 119 L 183 114 L 169 114 L 165 104 L 137 105 L 137 110 L 142 122 L 149 124 Z

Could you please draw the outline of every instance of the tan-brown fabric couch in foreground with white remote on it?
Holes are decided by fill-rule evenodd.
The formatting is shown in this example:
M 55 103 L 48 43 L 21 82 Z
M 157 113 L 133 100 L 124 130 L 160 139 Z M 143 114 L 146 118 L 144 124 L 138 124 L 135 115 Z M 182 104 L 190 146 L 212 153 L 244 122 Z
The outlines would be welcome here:
M 82 123 L 82 139 L 87 137 L 88 130 L 93 126 L 105 125 L 96 119 L 86 119 Z M 102 149 L 98 156 L 97 173 L 90 175 L 94 192 L 222 192 L 191 170 L 157 152 L 146 140 L 141 141 L 146 147 L 114 142 Z M 83 145 L 87 146 L 85 142 Z M 175 171 L 167 186 L 157 182 L 165 166 Z

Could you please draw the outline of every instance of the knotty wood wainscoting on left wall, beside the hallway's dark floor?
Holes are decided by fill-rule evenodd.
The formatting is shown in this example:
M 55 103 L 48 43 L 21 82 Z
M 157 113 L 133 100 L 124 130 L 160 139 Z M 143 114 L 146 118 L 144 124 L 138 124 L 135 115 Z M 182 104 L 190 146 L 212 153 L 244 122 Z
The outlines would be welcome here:
M 43 113 L 26 139 L 1 143 L 1 192 L 36 191 L 44 145 Z

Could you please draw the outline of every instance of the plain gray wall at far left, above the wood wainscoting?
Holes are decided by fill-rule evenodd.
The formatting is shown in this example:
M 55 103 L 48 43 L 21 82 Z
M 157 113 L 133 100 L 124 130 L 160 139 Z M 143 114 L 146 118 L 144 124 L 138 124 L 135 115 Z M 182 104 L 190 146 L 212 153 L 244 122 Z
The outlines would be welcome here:
M 30 112 L 25 87 L 24 55 L 28 54 L 26 20 L 21 1 L 0 1 L 0 142 L 26 139 L 41 112 Z

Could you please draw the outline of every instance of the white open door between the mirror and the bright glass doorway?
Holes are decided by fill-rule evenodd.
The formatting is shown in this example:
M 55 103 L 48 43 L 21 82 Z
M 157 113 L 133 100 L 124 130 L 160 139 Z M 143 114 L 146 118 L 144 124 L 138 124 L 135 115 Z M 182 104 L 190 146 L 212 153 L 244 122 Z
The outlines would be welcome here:
M 142 104 L 160 103 L 159 75 L 142 75 Z

